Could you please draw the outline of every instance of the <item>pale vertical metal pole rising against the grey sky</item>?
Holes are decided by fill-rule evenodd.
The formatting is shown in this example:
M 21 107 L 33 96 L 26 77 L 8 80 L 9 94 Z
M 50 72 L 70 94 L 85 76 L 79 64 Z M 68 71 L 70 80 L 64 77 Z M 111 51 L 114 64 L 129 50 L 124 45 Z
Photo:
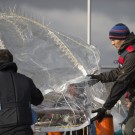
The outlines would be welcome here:
M 87 0 L 87 44 L 91 44 L 91 0 Z

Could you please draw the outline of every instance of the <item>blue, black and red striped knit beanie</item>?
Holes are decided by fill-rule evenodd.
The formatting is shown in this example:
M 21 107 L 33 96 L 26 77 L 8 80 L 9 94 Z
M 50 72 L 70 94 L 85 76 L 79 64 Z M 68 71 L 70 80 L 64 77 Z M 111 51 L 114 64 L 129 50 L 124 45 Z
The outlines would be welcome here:
M 112 27 L 112 29 L 109 31 L 109 38 L 125 40 L 129 36 L 129 34 L 130 31 L 128 27 L 125 24 L 119 23 Z

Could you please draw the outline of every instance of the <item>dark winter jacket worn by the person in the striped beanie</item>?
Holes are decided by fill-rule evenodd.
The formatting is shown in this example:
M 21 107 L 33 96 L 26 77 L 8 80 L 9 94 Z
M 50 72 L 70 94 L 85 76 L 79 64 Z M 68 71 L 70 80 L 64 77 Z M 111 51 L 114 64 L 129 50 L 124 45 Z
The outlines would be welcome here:
M 118 50 L 118 54 L 126 50 L 129 45 L 135 45 L 135 35 L 130 33 L 130 36 L 125 40 Z M 135 89 L 135 51 L 127 53 L 124 58 L 124 64 L 110 72 L 104 72 L 99 74 L 101 82 L 115 82 L 110 95 L 108 96 L 104 107 L 111 109 L 116 102 L 124 95 L 124 93 L 130 90 L 131 95 L 134 97 Z

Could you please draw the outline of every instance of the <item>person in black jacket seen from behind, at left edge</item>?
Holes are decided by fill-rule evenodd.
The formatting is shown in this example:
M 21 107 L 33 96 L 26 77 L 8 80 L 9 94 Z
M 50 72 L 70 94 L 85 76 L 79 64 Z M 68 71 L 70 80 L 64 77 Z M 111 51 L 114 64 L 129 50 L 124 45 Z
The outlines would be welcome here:
M 0 50 L 0 135 L 33 135 L 31 104 L 42 101 L 32 79 L 17 73 L 9 50 Z

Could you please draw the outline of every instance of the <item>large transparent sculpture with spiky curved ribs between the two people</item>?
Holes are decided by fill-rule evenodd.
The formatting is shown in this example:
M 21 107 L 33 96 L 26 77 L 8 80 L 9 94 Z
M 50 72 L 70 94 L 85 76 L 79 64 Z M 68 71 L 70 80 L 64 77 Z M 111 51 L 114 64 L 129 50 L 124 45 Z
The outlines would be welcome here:
M 31 77 L 44 94 L 32 108 L 40 131 L 68 131 L 87 126 L 103 85 L 86 77 L 99 71 L 93 45 L 66 36 L 15 12 L 0 13 L 0 46 L 14 55 L 19 71 Z

